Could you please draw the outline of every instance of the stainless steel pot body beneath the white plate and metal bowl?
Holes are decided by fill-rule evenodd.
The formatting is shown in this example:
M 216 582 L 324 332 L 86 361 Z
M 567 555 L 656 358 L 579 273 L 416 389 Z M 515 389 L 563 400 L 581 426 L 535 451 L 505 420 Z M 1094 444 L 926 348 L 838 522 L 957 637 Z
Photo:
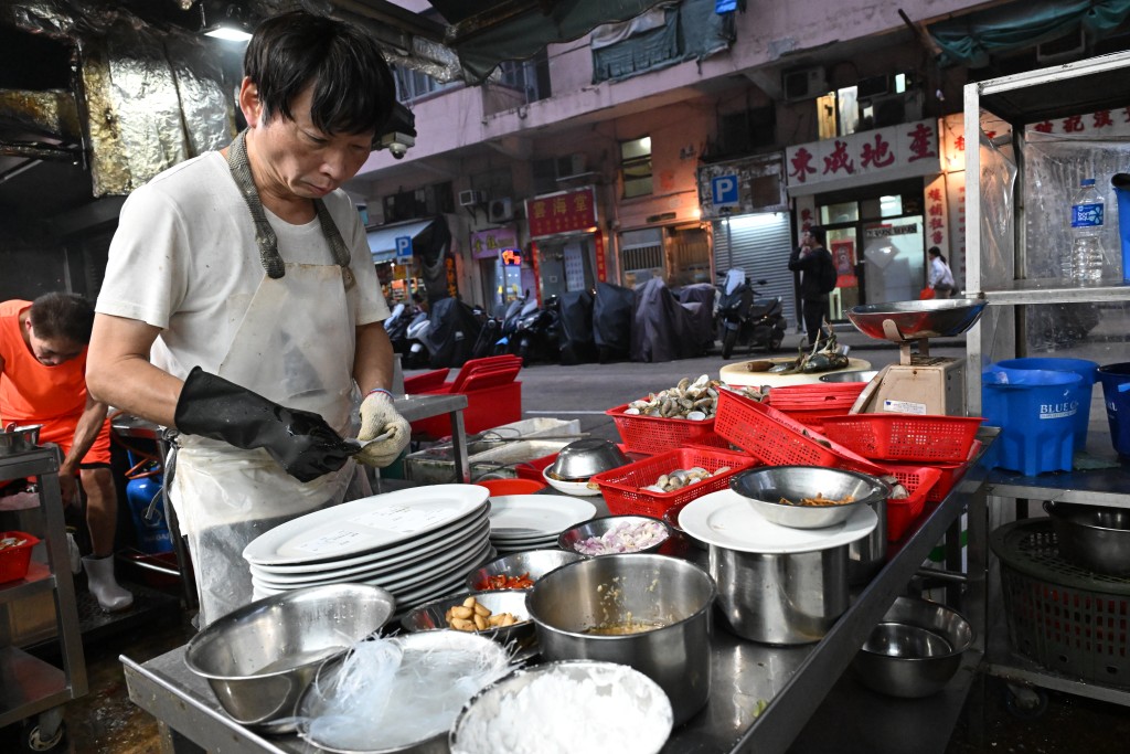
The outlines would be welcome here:
M 710 546 L 710 573 L 730 629 L 766 644 L 819 641 L 847 609 L 847 549 L 746 553 Z

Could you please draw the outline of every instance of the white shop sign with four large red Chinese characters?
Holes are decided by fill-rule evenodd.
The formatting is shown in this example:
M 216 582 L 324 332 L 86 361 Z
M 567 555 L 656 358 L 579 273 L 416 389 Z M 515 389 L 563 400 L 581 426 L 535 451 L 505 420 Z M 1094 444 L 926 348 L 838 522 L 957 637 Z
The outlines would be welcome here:
M 851 185 L 925 175 L 937 173 L 939 165 L 935 119 L 785 149 L 790 193 L 812 193 L 831 188 L 832 183 Z

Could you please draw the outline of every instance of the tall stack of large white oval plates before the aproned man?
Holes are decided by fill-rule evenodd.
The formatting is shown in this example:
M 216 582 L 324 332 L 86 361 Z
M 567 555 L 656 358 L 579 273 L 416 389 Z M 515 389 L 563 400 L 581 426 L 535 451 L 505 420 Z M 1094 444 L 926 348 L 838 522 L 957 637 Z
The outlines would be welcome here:
M 497 556 L 485 487 L 431 485 L 373 495 L 279 525 L 243 551 L 254 598 L 350 582 L 397 598 L 397 612 L 463 589 Z

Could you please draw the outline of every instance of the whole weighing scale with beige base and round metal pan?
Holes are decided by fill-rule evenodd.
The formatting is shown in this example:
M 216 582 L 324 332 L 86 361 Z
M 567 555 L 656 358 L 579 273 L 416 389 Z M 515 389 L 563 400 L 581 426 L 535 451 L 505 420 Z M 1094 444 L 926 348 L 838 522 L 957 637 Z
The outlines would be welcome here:
M 965 359 L 930 355 L 930 338 L 968 330 L 986 302 L 977 298 L 868 304 L 847 310 L 860 332 L 898 346 L 898 363 L 879 370 L 852 414 L 965 416 Z M 911 353 L 918 344 L 918 353 Z

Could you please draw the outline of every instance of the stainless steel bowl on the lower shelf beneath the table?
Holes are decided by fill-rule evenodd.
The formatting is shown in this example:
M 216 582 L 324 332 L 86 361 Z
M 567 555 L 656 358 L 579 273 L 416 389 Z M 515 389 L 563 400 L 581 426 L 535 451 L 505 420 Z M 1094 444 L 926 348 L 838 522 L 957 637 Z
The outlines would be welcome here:
M 972 643 L 973 629 L 956 610 L 899 597 L 871 631 L 851 667 L 860 683 L 881 694 L 930 696 L 954 677 L 962 653 Z

